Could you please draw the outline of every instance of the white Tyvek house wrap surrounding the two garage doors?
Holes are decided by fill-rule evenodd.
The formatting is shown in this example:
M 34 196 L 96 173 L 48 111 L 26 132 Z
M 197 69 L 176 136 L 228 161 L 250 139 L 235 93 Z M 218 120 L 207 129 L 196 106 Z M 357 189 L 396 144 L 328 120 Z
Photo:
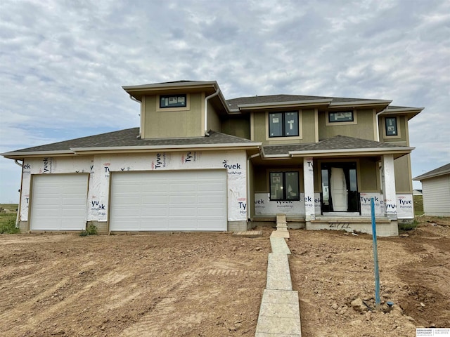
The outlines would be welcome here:
M 86 220 L 107 221 L 111 172 L 189 169 L 226 170 L 228 220 L 247 220 L 246 158 L 245 151 L 238 150 L 102 154 L 94 157 L 25 159 L 23 163 L 20 220 L 28 220 L 30 183 L 33 174 L 89 173 Z M 205 193 L 207 194 L 207 191 Z

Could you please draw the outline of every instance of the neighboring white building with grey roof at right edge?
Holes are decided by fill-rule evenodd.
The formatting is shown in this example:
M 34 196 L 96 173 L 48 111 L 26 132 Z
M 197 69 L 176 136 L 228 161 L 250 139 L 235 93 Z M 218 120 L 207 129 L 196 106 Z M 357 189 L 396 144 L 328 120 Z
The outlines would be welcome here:
M 422 183 L 425 216 L 450 216 L 450 164 L 413 180 L 420 180 Z

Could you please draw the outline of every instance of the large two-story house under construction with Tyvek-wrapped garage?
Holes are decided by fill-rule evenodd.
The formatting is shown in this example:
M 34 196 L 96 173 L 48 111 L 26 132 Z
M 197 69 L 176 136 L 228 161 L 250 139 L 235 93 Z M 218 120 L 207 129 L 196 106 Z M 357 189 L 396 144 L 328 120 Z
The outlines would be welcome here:
M 266 95 L 225 100 L 216 81 L 124 90 L 139 128 L 4 153 L 23 161 L 22 230 L 247 230 L 397 235 L 413 219 L 409 119 L 390 100 Z

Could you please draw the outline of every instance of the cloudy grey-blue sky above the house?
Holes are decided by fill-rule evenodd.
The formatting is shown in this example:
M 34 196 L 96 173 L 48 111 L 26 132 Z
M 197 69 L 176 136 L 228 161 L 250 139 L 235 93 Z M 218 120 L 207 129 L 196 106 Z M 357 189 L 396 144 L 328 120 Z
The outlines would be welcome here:
M 0 153 L 139 126 L 122 86 L 218 81 L 425 107 L 413 176 L 450 161 L 449 0 L 1 0 Z M 0 202 L 20 167 L 0 158 Z M 420 184 L 415 184 L 420 187 Z

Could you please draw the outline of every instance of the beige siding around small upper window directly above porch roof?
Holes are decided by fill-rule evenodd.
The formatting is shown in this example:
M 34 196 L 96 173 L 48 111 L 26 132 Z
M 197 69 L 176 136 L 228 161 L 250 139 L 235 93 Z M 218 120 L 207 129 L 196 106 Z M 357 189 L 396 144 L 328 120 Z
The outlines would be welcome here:
M 373 140 L 373 110 L 355 110 L 356 124 L 333 123 L 326 125 L 328 112 L 319 112 L 319 139 L 338 135 Z

